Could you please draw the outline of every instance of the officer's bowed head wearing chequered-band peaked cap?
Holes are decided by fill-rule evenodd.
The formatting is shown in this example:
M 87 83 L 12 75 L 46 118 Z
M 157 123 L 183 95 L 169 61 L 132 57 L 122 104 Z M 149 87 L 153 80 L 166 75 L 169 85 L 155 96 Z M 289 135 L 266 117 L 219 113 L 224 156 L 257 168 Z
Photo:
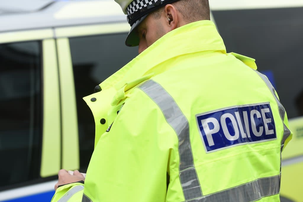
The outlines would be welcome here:
M 127 14 L 127 46 L 141 53 L 163 35 L 199 20 L 210 20 L 208 0 L 115 0 Z

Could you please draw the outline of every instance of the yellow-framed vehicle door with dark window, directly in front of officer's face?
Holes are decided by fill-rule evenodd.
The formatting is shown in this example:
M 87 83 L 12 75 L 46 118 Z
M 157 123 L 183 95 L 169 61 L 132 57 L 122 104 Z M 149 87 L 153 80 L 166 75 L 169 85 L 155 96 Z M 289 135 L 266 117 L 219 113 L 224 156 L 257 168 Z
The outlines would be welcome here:
M 138 55 L 137 48 L 125 46 L 129 29 L 126 22 L 55 29 L 62 101 L 62 168 L 86 173 L 94 150 L 95 121 L 82 98 L 94 93 L 95 86 Z

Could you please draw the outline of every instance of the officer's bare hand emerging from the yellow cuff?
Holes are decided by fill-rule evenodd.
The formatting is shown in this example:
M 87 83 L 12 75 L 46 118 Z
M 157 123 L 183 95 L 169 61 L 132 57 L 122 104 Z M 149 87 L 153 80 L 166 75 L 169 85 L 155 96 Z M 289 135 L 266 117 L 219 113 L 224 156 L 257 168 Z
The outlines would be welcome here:
M 70 184 L 81 180 L 84 181 L 85 178 L 79 171 L 74 171 L 74 175 L 71 175 L 68 173 L 68 171 L 62 169 L 58 172 L 58 183 L 55 184 L 55 190 L 57 190 L 58 186 L 60 185 Z

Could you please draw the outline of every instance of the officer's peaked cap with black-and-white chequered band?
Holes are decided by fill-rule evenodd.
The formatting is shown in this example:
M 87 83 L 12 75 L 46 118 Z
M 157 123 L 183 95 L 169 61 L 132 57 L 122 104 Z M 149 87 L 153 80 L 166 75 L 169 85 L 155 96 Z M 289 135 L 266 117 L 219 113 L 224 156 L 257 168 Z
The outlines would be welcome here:
M 115 2 L 121 6 L 124 14 L 127 15 L 127 22 L 131 25 L 131 30 L 125 40 L 125 45 L 139 45 L 139 37 L 135 28 L 150 12 L 176 1 L 178 0 L 115 0 Z

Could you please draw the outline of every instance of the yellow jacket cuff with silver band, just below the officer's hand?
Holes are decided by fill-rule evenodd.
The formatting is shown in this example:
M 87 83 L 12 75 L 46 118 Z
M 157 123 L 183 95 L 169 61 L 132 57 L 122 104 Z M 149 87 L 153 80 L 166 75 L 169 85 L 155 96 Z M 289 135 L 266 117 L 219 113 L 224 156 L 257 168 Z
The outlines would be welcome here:
M 79 182 L 58 187 L 51 202 L 80 202 L 82 200 L 83 188 L 84 184 Z

